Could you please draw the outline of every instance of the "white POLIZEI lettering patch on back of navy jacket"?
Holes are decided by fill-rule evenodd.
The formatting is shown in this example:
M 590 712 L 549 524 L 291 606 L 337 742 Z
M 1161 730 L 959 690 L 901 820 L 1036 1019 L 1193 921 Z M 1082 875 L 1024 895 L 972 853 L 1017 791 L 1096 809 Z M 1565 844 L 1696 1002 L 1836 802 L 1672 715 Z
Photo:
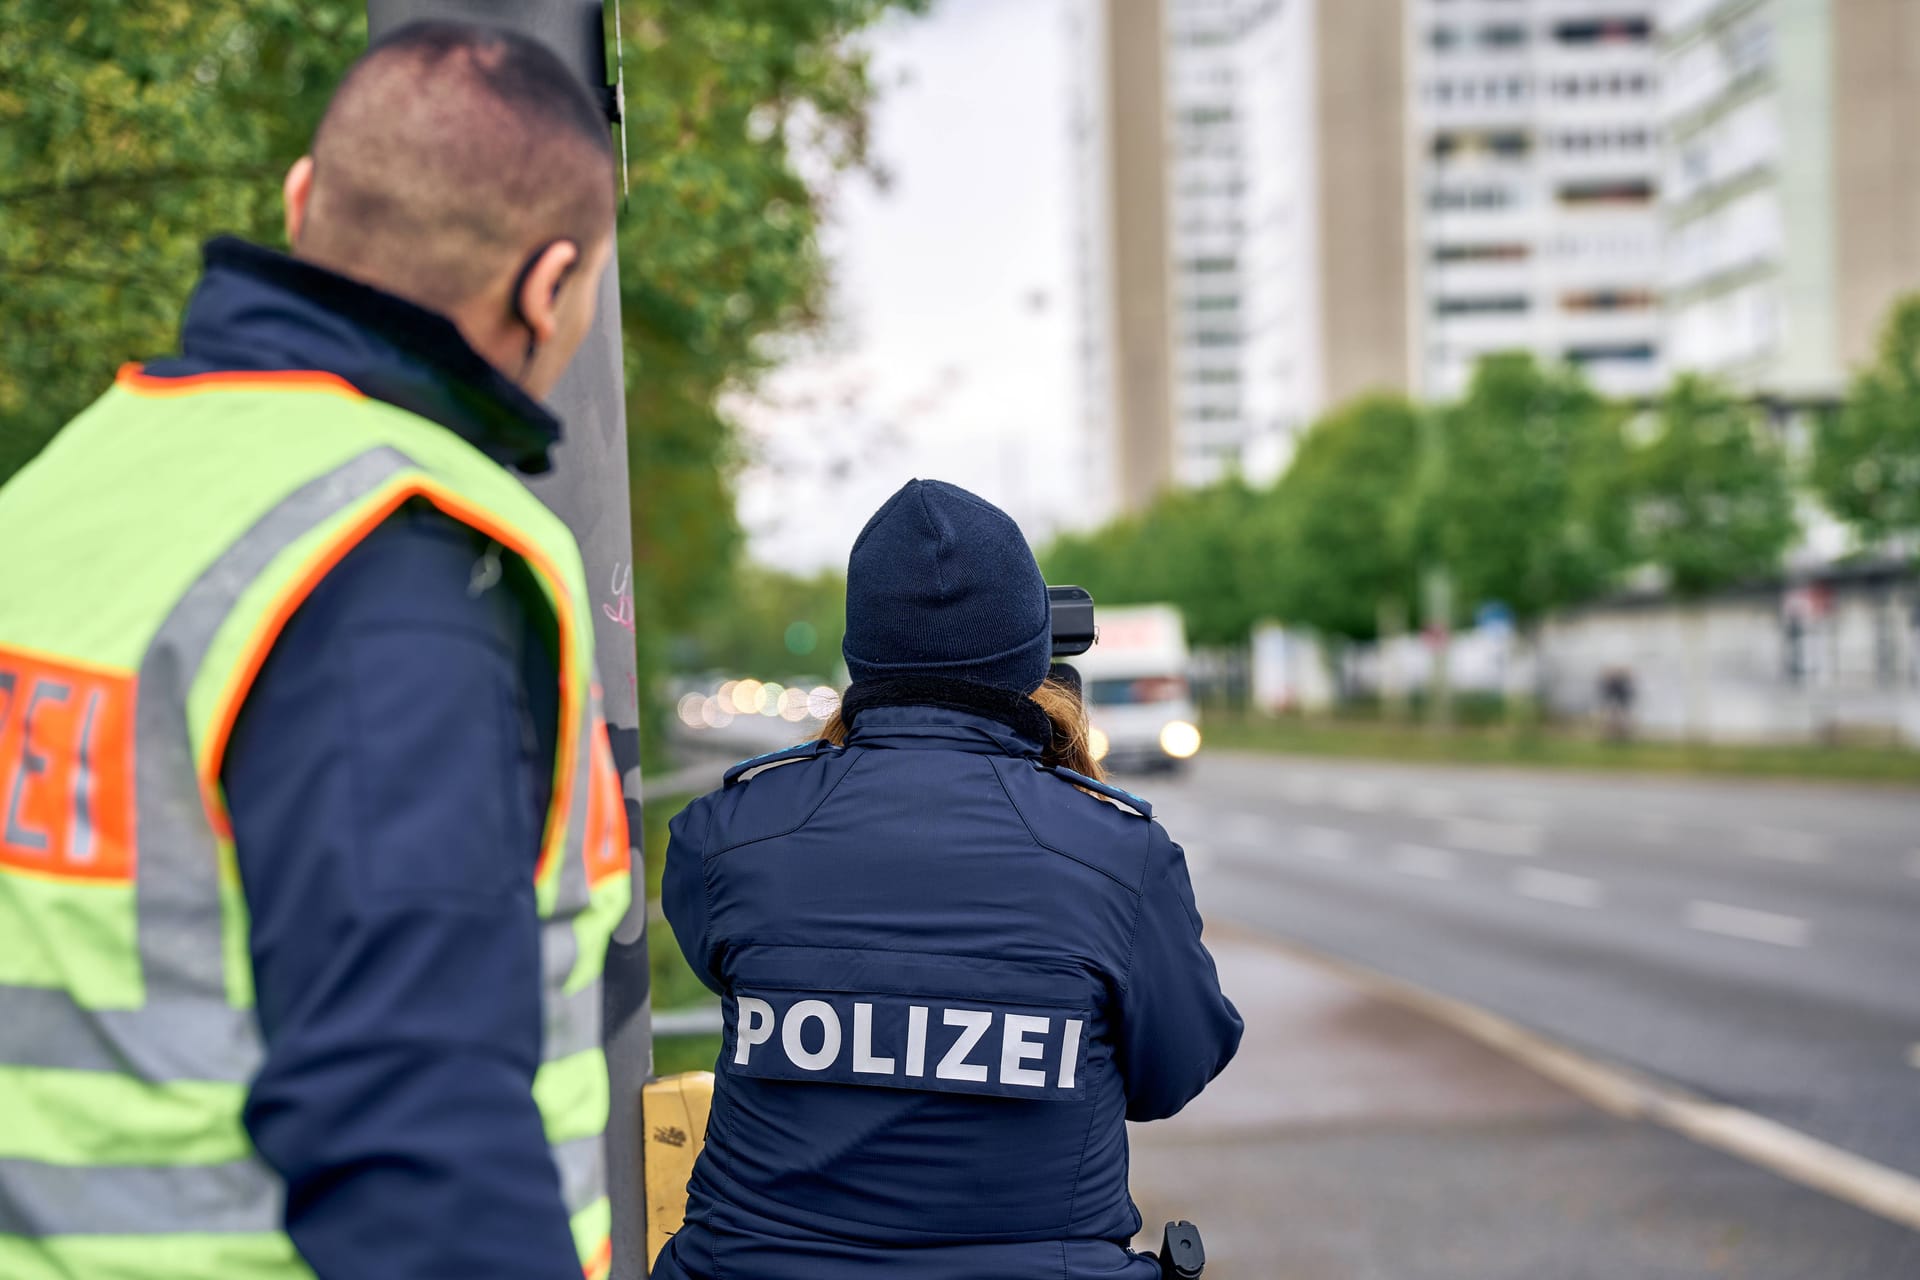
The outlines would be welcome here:
M 735 992 L 722 1065 L 762 1080 L 1075 1102 L 1087 1009 L 991 1000 Z

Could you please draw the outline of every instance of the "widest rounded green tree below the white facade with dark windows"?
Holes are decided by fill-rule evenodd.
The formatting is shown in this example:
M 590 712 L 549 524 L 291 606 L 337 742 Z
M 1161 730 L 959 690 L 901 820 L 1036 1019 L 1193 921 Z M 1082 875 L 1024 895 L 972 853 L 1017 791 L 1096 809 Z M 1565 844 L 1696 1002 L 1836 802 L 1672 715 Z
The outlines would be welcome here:
M 1428 445 L 1415 543 L 1463 610 L 1501 601 L 1521 628 L 1620 568 L 1620 416 L 1572 368 L 1492 355 Z

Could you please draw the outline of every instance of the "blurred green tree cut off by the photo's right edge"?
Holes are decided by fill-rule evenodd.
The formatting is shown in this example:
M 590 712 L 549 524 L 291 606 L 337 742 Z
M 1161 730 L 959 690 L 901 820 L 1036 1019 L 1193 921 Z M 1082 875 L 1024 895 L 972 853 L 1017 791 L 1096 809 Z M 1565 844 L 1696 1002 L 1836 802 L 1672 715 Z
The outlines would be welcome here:
M 1895 303 L 1878 357 L 1820 418 L 1811 480 L 1862 543 L 1920 535 L 1920 296 Z

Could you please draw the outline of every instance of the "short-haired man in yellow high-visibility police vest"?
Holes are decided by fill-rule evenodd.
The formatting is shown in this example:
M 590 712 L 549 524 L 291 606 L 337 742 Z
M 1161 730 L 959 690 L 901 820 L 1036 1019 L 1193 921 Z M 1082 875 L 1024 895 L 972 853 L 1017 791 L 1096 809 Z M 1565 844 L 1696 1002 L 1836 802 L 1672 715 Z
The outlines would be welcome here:
M 580 555 L 515 470 L 603 113 L 396 33 L 175 359 L 0 489 L 0 1276 L 607 1270 L 628 902 Z

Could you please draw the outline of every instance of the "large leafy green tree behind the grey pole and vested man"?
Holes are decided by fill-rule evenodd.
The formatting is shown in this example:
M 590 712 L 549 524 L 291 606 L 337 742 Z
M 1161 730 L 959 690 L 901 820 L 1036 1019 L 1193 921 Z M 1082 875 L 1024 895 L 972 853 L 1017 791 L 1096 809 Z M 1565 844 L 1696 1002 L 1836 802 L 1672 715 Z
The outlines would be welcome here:
M 620 215 L 643 689 L 730 599 L 720 411 L 818 320 L 824 177 L 868 163 L 858 35 L 927 0 L 628 0 Z M 0 21 L 0 482 L 173 345 L 200 242 L 280 242 L 280 177 L 365 48 L 361 0 L 10 0 Z M 812 175 L 812 180 L 808 180 Z M 649 708 L 645 727 L 659 725 Z M 659 741 L 657 733 L 647 735 Z

